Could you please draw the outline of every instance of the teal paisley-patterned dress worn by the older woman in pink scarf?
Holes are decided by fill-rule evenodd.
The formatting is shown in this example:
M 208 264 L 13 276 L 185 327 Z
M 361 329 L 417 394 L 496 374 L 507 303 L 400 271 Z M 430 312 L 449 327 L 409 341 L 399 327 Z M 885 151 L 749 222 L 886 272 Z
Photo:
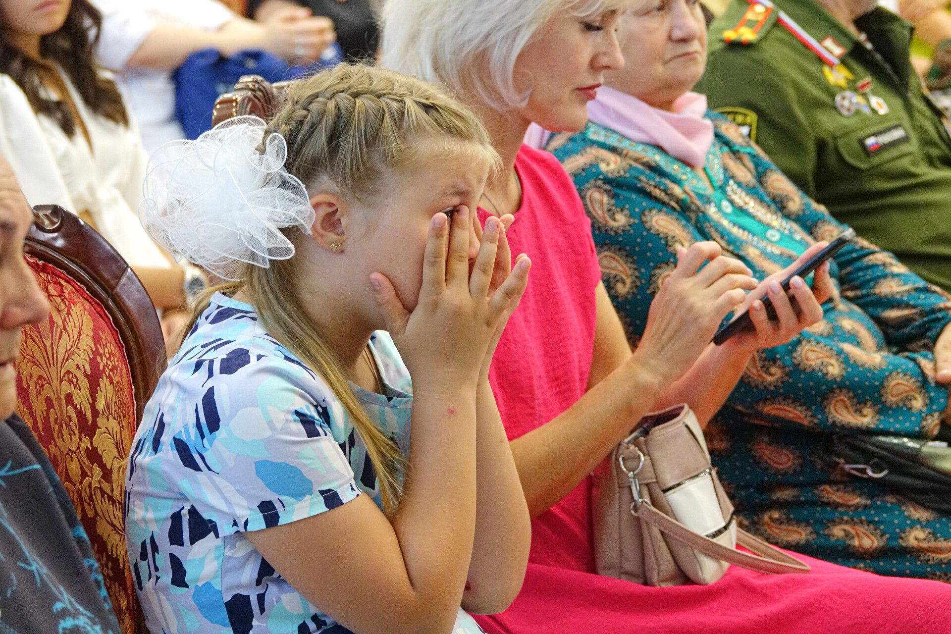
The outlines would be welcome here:
M 716 240 L 762 279 L 844 225 L 810 201 L 740 129 L 708 112 L 713 190 L 685 163 L 589 124 L 549 150 L 592 220 L 601 272 L 636 345 L 679 245 Z M 934 340 L 951 301 L 890 253 L 853 240 L 832 262 L 838 298 L 785 346 L 758 352 L 708 427 L 748 530 L 782 547 L 886 575 L 951 582 L 951 518 L 850 475 L 831 433 L 946 438 Z

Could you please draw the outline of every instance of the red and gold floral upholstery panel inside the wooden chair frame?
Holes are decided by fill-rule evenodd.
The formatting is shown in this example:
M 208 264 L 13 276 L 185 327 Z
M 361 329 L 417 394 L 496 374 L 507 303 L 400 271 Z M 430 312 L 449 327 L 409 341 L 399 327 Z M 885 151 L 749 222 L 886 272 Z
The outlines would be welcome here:
M 76 280 L 28 256 L 49 317 L 23 330 L 18 412 L 49 454 L 100 563 L 123 631 L 134 620 L 123 491 L 135 434 L 126 349 L 103 305 Z

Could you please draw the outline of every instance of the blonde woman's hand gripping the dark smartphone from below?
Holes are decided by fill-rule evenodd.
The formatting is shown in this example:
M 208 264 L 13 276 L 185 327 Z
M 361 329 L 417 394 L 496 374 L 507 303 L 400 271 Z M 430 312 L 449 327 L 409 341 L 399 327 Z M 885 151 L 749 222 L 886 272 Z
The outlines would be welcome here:
M 746 352 L 781 346 L 822 319 L 822 303 L 835 292 L 829 278 L 827 261 L 816 269 L 812 288 L 797 276 L 790 280 L 787 295 L 781 283 L 827 245 L 826 242 L 813 244 L 799 259 L 779 273 L 764 279 L 750 292 L 743 304 L 736 309 L 735 318 L 748 312 L 753 328 L 731 336 L 723 345 Z M 775 311 L 775 317 L 772 319 L 767 315 L 767 308 L 763 303 L 763 298 L 767 297 Z

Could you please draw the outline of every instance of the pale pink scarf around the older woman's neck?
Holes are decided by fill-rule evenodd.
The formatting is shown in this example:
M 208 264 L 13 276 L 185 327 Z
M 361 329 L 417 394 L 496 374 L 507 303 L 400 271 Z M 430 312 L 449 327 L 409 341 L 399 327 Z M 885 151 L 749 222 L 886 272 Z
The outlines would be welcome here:
M 659 110 L 620 90 L 601 86 L 597 99 L 588 105 L 588 119 L 635 143 L 657 145 L 679 161 L 702 167 L 713 143 L 713 124 L 704 117 L 707 97 L 684 93 L 673 103 L 673 110 Z M 543 146 L 550 136 L 533 124 L 525 143 Z

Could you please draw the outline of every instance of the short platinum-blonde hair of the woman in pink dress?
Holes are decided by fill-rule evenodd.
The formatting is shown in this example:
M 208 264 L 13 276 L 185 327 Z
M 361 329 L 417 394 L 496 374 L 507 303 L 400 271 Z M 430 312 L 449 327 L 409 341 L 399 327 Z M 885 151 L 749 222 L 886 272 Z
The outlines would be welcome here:
M 594 16 L 630 0 L 386 0 L 382 65 L 460 95 L 475 92 L 496 110 L 524 106 L 515 59 L 556 13 Z M 557 71 L 553 68 L 553 71 Z

